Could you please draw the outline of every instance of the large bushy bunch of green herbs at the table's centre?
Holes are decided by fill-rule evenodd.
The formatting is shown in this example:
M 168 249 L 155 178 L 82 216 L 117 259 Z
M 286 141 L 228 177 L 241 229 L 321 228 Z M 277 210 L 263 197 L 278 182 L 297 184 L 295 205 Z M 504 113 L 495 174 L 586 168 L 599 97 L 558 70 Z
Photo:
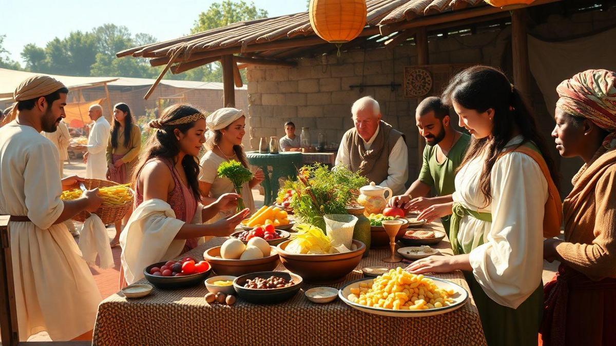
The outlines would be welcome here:
M 312 164 L 299 170 L 297 180 L 287 180 L 281 191 L 293 190 L 290 207 L 300 222 L 325 231 L 323 215 L 347 214 L 347 204 L 367 184 L 368 179 L 346 167 L 331 171 L 323 164 Z

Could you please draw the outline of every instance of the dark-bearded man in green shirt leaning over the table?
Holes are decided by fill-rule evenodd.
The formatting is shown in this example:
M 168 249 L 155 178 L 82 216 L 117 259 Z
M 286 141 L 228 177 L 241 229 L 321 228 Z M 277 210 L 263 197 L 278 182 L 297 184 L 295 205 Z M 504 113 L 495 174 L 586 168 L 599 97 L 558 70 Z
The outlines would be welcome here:
M 453 129 L 449 108 L 438 97 L 428 97 L 419 103 L 415 121 L 419 135 L 426 139 L 427 144 L 421 172 L 404 195 L 394 196 L 389 205 L 423 211 L 434 204 L 452 201 L 456 169 L 464 158 L 471 136 Z M 437 197 L 426 197 L 432 187 Z M 442 221 L 448 235 L 449 218 Z

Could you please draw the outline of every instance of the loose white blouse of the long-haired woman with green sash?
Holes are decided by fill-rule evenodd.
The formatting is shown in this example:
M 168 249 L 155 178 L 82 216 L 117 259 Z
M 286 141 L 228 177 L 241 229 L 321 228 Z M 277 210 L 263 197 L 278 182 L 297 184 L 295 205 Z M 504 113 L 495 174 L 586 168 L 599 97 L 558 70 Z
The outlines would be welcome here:
M 521 139 L 514 138 L 508 146 Z M 479 156 L 461 167 L 453 201 L 492 214 L 492 222 L 464 216 L 458 241 L 464 249 L 472 249 L 472 274 L 485 294 L 500 305 L 517 308 L 541 282 L 548 182 L 535 160 L 519 152 L 507 153 L 492 167 L 492 201 L 485 206 L 479 187 L 484 166 L 485 158 Z M 478 245 L 481 236 L 485 243 Z

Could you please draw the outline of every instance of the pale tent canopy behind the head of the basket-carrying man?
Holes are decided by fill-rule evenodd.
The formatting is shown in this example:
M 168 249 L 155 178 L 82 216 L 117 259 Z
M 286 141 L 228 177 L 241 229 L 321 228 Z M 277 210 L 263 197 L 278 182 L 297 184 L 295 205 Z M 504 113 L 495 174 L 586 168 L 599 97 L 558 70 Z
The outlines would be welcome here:
M 19 85 L 24 79 L 34 76 L 35 74 L 26 71 L 8 70 L 6 68 L 0 68 L 0 98 L 13 98 L 13 92 L 15 87 Z M 73 77 L 73 76 L 58 76 L 56 74 L 49 74 L 53 78 L 63 82 L 68 87 L 69 91 L 76 91 L 86 87 L 103 86 L 105 83 L 113 82 L 117 77 Z

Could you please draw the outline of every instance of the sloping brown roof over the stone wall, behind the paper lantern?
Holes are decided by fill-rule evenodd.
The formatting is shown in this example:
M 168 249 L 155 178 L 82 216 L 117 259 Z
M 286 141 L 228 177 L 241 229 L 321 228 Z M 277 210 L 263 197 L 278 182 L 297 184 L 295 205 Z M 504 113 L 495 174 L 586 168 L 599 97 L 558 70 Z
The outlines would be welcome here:
M 535 0 L 532 6 L 556 1 L 560 0 Z M 508 17 L 508 11 L 488 6 L 484 0 L 367 0 L 366 3 L 367 25 L 359 37 L 344 44 L 343 49 L 349 50 L 358 44 L 360 47 L 387 43 L 394 46 L 410 38 L 413 30 L 424 26 L 463 23 L 477 17 L 486 20 Z M 233 61 L 240 64 L 294 66 L 296 62 L 286 59 L 314 54 L 322 47 L 331 49 L 331 46 L 314 33 L 308 12 L 301 12 L 233 23 L 123 50 L 116 55 L 150 58 L 152 66 L 167 65 L 164 74 L 169 69 L 172 73 L 181 73 L 227 55 L 235 55 Z

